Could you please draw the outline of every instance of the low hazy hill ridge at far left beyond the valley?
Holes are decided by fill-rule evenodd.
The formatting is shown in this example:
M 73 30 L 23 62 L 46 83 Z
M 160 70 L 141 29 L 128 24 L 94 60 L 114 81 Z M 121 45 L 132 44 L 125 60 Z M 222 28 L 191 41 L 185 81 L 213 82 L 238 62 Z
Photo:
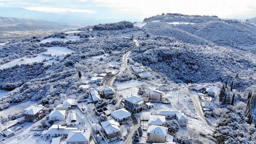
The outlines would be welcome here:
M 60 30 L 71 28 L 71 25 L 48 22 L 44 20 L 34 20 L 27 18 L 12 18 L 0 16 L 0 31 L 32 31 L 32 30 Z

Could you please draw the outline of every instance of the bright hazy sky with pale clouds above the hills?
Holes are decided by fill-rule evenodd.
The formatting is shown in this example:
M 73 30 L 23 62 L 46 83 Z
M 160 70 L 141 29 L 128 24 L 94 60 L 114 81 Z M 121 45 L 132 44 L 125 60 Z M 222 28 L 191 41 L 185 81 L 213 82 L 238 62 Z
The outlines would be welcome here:
M 256 0 L 0 0 L 0 6 L 45 12 L 129 15 L 141 19 L 163 12 L 220 18 L 256 17 Z

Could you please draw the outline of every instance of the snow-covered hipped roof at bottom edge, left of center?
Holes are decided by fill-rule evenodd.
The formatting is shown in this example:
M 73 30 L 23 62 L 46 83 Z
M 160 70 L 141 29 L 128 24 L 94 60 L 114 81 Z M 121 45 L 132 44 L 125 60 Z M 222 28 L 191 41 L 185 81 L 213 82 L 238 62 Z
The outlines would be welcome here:
M 89 142 L 91 131 L 70 131 L 66 142 Z

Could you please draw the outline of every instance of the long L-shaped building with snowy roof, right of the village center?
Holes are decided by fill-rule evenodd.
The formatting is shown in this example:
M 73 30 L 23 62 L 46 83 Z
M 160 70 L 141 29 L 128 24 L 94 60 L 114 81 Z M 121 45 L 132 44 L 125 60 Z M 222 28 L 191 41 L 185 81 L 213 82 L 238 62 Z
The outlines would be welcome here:
M 158 110 L 156 115 L 165 116 L 166 119 L 175 118 L 180 126 L 187 126 L 188 118 L 180 110 Z

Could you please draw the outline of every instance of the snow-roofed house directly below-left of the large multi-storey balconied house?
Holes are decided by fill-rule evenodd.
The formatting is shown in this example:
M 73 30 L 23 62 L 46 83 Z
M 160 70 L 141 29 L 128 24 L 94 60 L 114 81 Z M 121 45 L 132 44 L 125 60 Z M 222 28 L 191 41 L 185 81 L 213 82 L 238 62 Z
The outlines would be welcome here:
M 125 124 L 126 120 L 131 116 L 130 112 L 124 108 L 113 111 L 110 114 L 119 124 Z

